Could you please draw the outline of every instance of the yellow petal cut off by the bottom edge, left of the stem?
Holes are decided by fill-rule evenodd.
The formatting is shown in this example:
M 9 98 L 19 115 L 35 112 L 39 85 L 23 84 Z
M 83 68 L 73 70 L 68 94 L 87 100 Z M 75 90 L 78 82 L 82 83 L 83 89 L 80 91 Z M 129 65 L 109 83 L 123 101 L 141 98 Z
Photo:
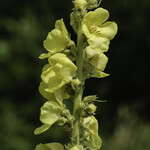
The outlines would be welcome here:
M 64 146 L 60 143 L 38 144 L 35 150 L 64 150 Z

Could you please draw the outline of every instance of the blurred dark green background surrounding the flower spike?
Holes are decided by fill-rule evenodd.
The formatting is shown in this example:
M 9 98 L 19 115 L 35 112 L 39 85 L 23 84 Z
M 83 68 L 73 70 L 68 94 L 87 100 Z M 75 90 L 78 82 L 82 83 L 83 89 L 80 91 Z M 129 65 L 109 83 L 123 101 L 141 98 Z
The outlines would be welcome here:
M 102 150 L 150 149 L 150 32 L 149 0 L 103 0 L 109 20 L 119 30 L 111 41 L 105 79 L 89 79 L 84 95 L 98 94 L 96 118 L 103 139 Z M 64 18 L 69 26 L 71 0 L 0 0 L 0 149 L 33 150 L 36 144 L 59 141 L 68 135 L 53 126 L 33 135 L 40 126 L 44 99 L 38 92 L 41 69 L 38 56 L 43 40 Z

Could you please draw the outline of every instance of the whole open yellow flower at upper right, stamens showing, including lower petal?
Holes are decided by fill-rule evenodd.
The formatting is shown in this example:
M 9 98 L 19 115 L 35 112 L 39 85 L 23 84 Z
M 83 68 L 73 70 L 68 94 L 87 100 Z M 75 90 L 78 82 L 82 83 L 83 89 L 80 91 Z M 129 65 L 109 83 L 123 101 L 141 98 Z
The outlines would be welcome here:
M 89 47 L 86 53 L 89 57 L 93 57 L 95 53 L 107 52 L 110 40 L 117 33 L 117 24 L 110 21 L 105 22 L 108 18 L 109 12 L 103 8 L 90 11 L 83 18 L 82 30 L 88 38 Z

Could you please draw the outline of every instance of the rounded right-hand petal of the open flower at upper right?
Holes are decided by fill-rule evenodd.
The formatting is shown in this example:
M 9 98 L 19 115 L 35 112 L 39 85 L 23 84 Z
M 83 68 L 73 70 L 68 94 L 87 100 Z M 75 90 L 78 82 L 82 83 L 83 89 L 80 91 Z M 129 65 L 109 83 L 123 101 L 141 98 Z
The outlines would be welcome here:
M 117 34 L 117 24 L 115 22 L 105 22 L 99 27 L 100 36 L 106 37 L 109 40 L 112 40 L 114 36 Z

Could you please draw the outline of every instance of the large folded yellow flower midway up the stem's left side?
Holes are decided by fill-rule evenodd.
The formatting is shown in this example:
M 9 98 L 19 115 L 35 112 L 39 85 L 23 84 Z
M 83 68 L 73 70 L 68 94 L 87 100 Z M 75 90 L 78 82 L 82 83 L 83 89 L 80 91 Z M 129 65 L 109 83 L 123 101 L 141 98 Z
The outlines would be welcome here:
M 46 85 L 45 91 L 53 93 L 71 82 L 77 67 L 62 53 L 56 53 L 49 58 L 49 63 L 43 68 L 42 82 Z

